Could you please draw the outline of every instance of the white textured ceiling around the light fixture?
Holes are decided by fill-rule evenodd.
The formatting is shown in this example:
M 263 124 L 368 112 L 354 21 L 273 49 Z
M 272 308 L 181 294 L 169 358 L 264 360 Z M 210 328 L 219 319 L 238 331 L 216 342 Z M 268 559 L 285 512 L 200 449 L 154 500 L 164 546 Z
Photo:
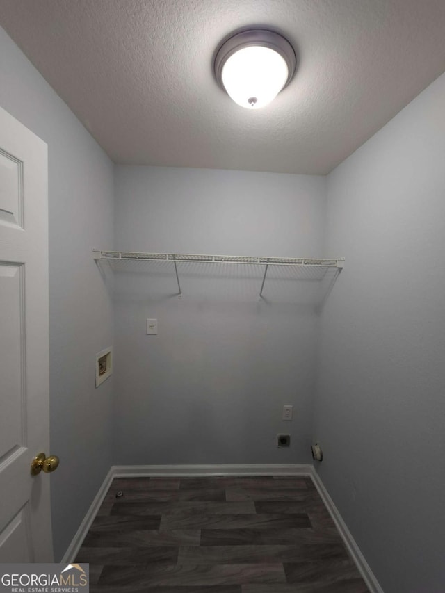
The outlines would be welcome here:
M 115 163 L 326 174 L 445 70 L 444 0 L 0 0 L 0 24 Z M 299 61 L 258 111 L 212 74 L 246 26 Z

